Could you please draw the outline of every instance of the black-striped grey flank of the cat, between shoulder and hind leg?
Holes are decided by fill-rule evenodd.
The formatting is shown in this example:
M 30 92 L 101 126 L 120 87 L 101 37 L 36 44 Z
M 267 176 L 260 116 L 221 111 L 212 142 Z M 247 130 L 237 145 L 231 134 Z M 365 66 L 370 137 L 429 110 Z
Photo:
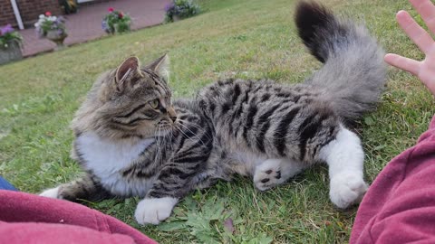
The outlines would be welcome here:
M 305 85 L 285 87 L 268 80 L 218 81 L 198 95 L 199 106 L 227 151 L 308 164 L 340 125 L 339 117 L 318 98 L 319 93 Z

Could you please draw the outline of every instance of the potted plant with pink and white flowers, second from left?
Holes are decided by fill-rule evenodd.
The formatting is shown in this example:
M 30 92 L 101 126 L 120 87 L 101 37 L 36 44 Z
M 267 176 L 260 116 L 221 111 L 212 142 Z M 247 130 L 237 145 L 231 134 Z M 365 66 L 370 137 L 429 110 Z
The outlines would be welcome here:
M 39 15 L 39 20 L 34 23 L 36 33 L 40 38 L 47 38 L 56 43 L 54 50 L 59 50 L 65 47 L 63 41 L 68 36 L 66 33 L 65 19 L 62 16 L 53 16 L 50 12 Z

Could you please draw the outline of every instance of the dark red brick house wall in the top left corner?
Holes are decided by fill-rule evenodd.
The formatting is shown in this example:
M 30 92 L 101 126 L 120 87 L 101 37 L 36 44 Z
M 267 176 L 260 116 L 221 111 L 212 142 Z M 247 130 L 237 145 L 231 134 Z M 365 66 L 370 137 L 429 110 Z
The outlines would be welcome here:
M 39 14 L 49 11 L 53 15 L 62 14 L 58 0 L 16 0 L 24 26 L 33 26 Z M 10 0 L 0 0 L 0 26 L 12 23 L 17 26 L 14 9 Z

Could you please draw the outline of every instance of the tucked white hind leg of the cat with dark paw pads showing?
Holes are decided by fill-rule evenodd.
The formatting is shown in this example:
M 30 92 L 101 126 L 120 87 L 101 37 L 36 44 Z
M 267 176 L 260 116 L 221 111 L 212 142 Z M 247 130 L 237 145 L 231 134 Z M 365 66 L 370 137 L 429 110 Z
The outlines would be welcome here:
M 260 191 L 266 191 L 301 173 L 306 165 L 285 158 L 266 159 L 256 165 L 254 183 Z

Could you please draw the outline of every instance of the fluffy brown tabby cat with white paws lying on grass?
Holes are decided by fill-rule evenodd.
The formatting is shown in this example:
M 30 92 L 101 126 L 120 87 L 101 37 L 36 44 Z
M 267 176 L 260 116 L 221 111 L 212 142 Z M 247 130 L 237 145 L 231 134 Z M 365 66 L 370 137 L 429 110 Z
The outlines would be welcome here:
M 322 5 L 301 2 L 295 22 L 324 62 L 302 84 L 220 80 L 171 103 L 168 58 L 137 58 L 103 74 L 73 119 L 73 158 L 85 174 L 41 195 L 69 201 L 140 196 L 140 224 L 167 219 L 193 189 L 233 174 L 261 191 L 306 167 L 329 165 L 338 208 L 367 189 L 358 136 L 346 128 L 373 108 L 385 82 L 382 50 L 367 30 Z

